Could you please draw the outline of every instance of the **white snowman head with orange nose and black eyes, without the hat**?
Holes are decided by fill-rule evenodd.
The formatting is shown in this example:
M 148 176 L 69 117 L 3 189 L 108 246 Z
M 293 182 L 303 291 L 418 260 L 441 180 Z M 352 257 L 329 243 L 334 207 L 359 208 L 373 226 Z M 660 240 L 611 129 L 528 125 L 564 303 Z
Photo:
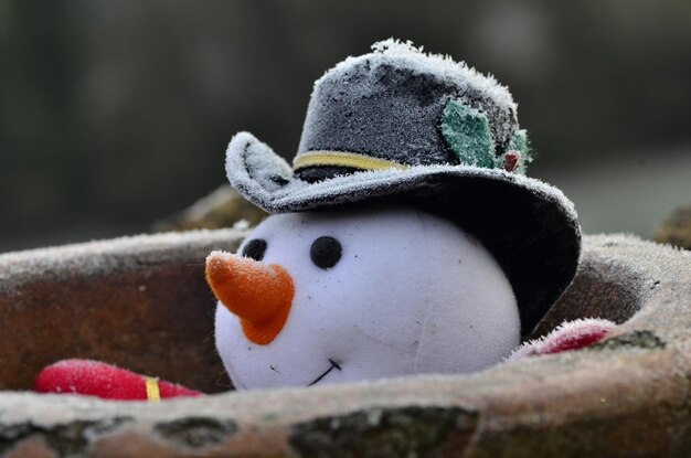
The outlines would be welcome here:
M 214 252 L 216 348 L 238 388 L 478 371 L 520 342 L 490 253 L 411 207 L 269 216 Z

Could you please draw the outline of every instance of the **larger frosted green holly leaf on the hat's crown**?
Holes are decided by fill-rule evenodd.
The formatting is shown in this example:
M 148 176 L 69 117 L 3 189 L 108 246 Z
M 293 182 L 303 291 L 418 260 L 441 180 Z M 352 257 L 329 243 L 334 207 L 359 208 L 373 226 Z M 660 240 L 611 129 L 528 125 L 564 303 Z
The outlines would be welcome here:
M 489 169 L 498 167 L 489 121 L 478 109 L 457 100 L 447 102 L 442 136 L 460 163 Z

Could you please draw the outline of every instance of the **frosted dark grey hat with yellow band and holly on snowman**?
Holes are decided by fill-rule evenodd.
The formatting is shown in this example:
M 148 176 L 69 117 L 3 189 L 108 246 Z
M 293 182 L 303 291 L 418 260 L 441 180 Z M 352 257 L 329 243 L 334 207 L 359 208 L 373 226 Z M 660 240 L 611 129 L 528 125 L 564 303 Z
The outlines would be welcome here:
M 410 43 L 376 43 L 315 83 L 290 167 L 247 132 L 226 172 L 270 213 L 411 204 L 475 234 L 504 269 L 528 334 L 575 275 L 573 204 L 525 177 L 531 156 L 509 90 Z

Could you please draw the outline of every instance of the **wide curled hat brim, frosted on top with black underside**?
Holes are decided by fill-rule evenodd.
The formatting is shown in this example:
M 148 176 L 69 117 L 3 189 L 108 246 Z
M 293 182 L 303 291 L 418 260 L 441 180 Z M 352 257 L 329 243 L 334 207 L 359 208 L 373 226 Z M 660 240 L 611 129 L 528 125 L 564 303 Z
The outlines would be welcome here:
M 503 170 L 419 166 L 362 171 L 308 183 L 247 132 L 228 145 L 226 173 L 249 202 L 269 213 L 328 210 L 373 202 L 415 205 L 477 236 L 504 269 L 527 335 L 571 284 L 581 230 L 556 188 Z

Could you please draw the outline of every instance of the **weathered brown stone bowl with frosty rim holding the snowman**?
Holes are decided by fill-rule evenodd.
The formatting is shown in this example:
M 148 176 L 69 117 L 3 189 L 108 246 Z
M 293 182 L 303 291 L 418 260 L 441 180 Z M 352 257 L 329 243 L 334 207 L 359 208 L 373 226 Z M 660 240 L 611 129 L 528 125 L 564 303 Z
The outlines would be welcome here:
M 212 248 L 240 232 L 153 235 L 0 256 L 3 456 L 691 456 L 691 254 L 587 236 L 541 323 L 620 323 L 586 350 L 472 375 L 226 392 L 213 350 Z M 93 358 L 206 393 L 147 404 L 38 395 L 38 371 Z

